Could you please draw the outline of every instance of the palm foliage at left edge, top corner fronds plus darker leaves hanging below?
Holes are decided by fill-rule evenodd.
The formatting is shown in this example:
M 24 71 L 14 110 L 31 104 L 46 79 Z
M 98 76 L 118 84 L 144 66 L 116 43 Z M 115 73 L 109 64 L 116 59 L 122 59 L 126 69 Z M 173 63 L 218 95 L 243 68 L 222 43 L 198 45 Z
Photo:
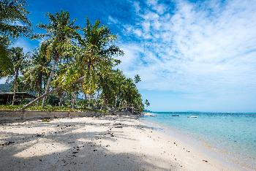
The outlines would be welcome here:
M 10 64 L 10 38 L 30 33 L 31 23 L 27 18 L 29 12 L 24 8 L 23 0 L 0 1 L 0 77 L 12 75 Z

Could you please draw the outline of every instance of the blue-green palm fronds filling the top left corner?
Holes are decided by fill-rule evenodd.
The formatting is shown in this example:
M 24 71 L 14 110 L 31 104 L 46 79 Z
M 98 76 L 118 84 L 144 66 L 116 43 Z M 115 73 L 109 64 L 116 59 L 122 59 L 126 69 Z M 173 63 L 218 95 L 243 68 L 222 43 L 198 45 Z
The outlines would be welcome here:
M 29 14 L 24 8 L 23 0 L 0 1 L 0 33 L 10 37 L 19 37 L 20 34 L 28 34 L 31 23 L 27 18 Z

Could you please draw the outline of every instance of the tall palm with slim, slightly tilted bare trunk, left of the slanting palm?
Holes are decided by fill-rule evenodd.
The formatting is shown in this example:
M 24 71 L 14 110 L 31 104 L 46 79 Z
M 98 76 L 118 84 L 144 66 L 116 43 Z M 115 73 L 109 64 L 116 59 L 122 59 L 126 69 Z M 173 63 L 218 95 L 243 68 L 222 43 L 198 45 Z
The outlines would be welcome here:
M 45 29 L 47 33 L 35 34 L 33 36 L 34 39 L 46 38 L 40 48 L 42 53 L 45 53 L 46 58 L 53 63 L 45 94 L 50 90 L 50 83 L 57 63 L 61 58 L 70 55 L 73 48 L 72 38 L 74 37 L 75 30 L 78 29 L 78 26 L 75 26 L 75 20 L 70 21 L 69 12 L 61 11 L 55 15 L 49 13 L 48 18 L 48 24 L 39 24 L 39 28 Z M 46 96 L 42 100 L 42 107 L 45 106 L 45 99 Z

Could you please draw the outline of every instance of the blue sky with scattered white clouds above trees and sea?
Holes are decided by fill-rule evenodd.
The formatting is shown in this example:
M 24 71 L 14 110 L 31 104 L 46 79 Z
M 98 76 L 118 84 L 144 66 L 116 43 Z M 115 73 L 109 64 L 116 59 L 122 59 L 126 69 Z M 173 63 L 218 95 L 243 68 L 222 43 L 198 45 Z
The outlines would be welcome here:
M 108 25 L 125 53 L 118 68 L 140 75 L 148 110 L 256 112 L 255 0 L 27 0 L 27 9 L 33 26 L 61 9 L 79 26 Z

